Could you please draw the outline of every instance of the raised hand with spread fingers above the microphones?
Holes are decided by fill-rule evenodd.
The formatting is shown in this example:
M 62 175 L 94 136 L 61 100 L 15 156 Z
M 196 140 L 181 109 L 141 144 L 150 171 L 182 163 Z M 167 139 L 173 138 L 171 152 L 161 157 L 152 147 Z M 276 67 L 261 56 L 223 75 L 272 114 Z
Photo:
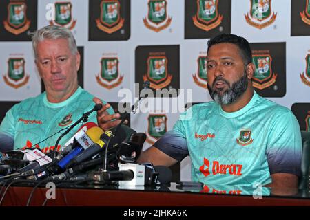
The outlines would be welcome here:
M 110 104 L 103 104 L 99 98 L 93 98 L 93 101 L 96 104 L 102 104 L 102 109 L 97 111 L 97 122 L 98 126 L 101 127 L 103 131 L 110 130 L 121 122 L 121 120 L 119 120 L 121 117 L 119 113 L 113 115 L 107 113 L 107 109 L 111 107 Z M 124 124 L 127 124 L 127 120 L 125 120 Z

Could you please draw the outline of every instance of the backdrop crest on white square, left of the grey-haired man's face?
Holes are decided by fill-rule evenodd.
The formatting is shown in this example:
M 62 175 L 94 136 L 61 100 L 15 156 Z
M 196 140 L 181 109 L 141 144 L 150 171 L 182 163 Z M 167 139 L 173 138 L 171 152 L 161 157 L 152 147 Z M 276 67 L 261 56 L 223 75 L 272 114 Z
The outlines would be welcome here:
M 6 85 L 18 89 L 28 83 L 29 75 L 25 74 L 24 58 L 9 58 L 8 72 L 3 76 Z

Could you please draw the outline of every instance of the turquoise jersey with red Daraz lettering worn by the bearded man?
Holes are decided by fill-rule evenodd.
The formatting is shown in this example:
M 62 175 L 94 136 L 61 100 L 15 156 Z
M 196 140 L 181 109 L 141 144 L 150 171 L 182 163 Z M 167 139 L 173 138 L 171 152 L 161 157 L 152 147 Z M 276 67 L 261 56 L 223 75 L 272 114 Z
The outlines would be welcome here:
M 154 146 L 192 160 L 192 180 L 213 185 L 271 183 L 273 173 L 300 175 L 302 141 L 293 113 L 254 92 L 239 111 L 196 104 Z

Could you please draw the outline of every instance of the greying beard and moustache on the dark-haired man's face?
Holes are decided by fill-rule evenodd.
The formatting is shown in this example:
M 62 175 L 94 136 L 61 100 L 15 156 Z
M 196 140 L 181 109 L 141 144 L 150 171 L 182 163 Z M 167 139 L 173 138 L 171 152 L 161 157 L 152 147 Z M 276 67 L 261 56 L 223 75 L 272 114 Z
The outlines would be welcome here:
M 217 79 L 214 80 L 214 82 Z M 225 80 L 226 81 L 226 80 Z M 228 82 L 227 82 L 228 83 Z M 211 87 L 208 86 L 209 93 L 213 100 L 220 104 L 220 105 L 225 105 L 225 104 L 231 104 L 238 100 L 238 98 L 245 93 L 247 90 L 247 76 L 246 74 L 243 75 L 236 83 L 233 83 L 227 91 L 225 91 L 222 95 L 218 94 L 218 91 L 212 90 Z

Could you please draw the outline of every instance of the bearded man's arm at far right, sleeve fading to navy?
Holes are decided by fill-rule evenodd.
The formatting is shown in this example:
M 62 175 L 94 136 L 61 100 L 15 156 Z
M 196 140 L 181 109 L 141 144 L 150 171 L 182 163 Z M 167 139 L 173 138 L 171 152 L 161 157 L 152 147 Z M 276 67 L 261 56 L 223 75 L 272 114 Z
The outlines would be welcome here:
M 300 126 L 291 111 L 275 119 L 269 133 L 267 160 L 272 188 L 297 188 L 302 157 Z

